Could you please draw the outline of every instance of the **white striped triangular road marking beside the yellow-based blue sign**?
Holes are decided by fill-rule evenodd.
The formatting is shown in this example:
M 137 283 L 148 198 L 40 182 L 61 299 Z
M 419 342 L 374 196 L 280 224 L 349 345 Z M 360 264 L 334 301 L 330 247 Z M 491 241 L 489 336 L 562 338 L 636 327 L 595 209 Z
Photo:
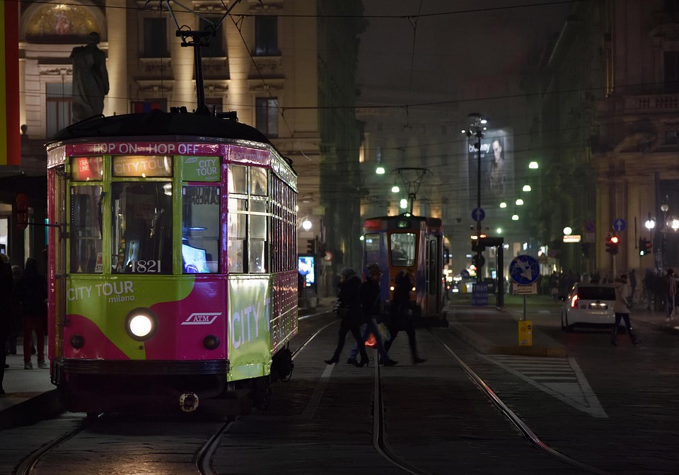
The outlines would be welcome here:
M 575 358 L 480 356 L 579 411 L 608 418 Z

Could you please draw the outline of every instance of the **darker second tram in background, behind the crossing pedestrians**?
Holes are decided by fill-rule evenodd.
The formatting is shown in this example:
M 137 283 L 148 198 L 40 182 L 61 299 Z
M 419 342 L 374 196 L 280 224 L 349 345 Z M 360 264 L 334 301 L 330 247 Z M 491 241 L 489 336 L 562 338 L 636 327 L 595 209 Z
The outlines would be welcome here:
M 440 218 L 398 216 L 368 218 L 363 223 L 364 265 L 377 262 L 385 269 L 381 300 L 393 298 L 396 276 L 410 271 L 414 316 L 446 324 L 443 312 L 443 226 Z

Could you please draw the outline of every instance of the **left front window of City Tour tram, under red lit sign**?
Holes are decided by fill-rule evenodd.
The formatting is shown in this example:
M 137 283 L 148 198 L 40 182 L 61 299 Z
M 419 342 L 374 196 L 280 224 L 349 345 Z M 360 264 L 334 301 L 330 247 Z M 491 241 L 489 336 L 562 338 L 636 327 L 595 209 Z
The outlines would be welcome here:
M 71 273 L 101 274 L 101 187 L 71 187 Z

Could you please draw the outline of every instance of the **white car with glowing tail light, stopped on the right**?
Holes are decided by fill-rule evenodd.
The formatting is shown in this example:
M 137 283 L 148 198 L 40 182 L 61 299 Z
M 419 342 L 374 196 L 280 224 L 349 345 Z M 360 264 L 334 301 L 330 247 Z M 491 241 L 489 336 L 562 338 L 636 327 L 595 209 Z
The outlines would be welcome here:
M 615 289 L 610 283 L 576 283 L 566 295 L 561 310 L 561 329 L 612 327 L 615 323 Z

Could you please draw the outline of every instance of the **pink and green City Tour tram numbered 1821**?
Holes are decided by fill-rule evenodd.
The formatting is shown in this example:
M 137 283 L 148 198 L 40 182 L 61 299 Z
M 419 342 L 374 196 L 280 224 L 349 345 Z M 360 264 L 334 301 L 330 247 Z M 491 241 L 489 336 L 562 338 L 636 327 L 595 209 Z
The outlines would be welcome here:
M 244 414 L 289 377 L 297 174 L 233 118 L 93 117 L 47 144 L 51 377 L 69 411 Z

